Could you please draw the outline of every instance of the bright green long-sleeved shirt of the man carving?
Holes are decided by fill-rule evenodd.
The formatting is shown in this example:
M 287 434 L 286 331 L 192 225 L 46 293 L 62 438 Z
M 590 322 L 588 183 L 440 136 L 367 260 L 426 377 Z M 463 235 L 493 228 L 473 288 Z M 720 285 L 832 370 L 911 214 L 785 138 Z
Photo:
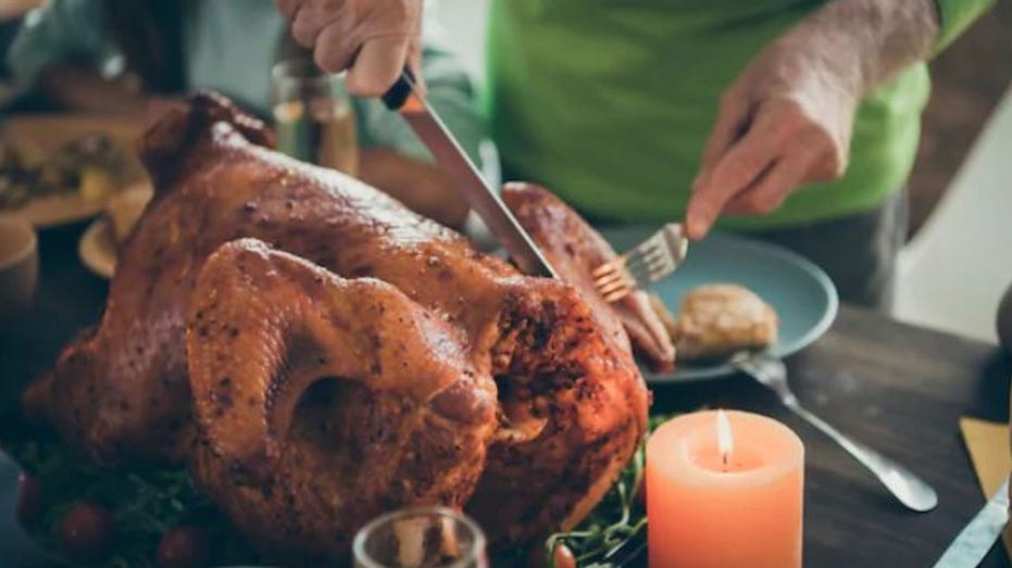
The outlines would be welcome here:
M 992 0 L 938 0 L 939 47 Z M 507 176 L 594 217 L 684 215 L 716 102 L 751 56 L 817 0 L 493 0 L 488 110 Z M 872 209 L 905 182 L 929 91 L 923 63 L 866 97 L 842 179 L 804 187 L 732 228 Z

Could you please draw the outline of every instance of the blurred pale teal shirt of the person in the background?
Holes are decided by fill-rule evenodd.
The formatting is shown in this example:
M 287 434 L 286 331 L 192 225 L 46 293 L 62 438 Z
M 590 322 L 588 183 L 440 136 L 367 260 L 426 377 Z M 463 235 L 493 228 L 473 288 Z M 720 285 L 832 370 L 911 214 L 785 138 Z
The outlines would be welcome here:
M 271 67 L 285 33 L 274 2 L 199 0 L 191 4 L 183 28 L 189 87 L 217 90 L 270 116 Z M 123 56 L 104 33 L 100 5 L 96 0 L 49 0 L 28 14 L 8 53 L 11 72 L 23 89 L 30 88 L 47 65 L 60 62 L 88 65 L 110 77 L 123 72 Z M 426 29 L 422 72 L 429 101 L 477 160 L 485 125 L 471 80 L 438 35 L 430 33 L 436 30 L 435 23 Z M 378 99 L 355 99 L 353 104 L 362 146 L 428 157 L 403 119 Z

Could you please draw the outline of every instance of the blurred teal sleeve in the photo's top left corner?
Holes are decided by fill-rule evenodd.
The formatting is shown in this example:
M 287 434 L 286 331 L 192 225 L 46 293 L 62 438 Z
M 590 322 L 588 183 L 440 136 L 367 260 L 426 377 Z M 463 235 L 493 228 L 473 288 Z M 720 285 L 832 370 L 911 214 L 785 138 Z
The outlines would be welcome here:
M 39 73 L 55 63 L 92 66 L 103 76 L 122 73 L 124 59 L 104 35 L 100 3 L 50 0 L 25 16 L 7 62 L 20 89 L 32 88 Z

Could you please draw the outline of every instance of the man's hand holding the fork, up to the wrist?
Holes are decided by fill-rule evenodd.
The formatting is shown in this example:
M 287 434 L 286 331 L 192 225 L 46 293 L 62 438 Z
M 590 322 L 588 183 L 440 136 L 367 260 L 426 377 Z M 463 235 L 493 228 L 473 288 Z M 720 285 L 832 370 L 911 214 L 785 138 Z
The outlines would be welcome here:
M 722 212 L 770 213 L 800 185 L 844 174 L 860 86 L 838 48 L 785 36 L 724 92 L 686 213 L 690 238 Z

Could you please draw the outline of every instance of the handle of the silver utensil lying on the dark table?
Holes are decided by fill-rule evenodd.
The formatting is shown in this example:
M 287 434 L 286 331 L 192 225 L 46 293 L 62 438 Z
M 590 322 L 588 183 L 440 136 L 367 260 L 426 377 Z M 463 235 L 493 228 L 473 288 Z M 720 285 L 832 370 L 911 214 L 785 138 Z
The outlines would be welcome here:
M 879 454 L 871 447 L 850 439 L 832 425 L 805 409 L 797 399 L 783 401 L 784 405 L 836 443 L 875 474 L 875 477 L 911 509 L 930 510 L 938 503 L 937 494 L 924 480 L 900 464 Z

